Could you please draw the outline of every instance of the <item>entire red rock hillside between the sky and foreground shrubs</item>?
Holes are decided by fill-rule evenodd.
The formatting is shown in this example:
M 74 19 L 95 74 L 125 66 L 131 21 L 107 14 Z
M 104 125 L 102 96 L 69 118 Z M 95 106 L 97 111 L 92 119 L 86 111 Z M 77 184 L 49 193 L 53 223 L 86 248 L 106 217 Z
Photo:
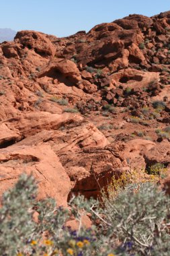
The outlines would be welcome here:
M 170 11 L 0 44 L 0 195 L 32 173 L 38 199 L 97 197 L 114 175 L 170 169 Z

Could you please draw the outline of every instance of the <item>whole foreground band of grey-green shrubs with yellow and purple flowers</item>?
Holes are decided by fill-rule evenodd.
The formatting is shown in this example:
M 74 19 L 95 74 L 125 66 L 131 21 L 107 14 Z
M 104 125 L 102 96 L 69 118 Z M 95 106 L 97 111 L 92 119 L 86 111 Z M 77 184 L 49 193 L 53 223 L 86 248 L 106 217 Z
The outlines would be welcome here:
M 78 196 L 69 202 L 69 210 L 50 198 L 36 201 L 34 178 L 22 175 L 3 195 L 1 255 L 168 256 L 170 197 L 155 182 L 132 184 L 133 175 L 136 172 L 113 177 L 101 192 L 103 207 Z M 32 218 L 35 212 L 38 222 Z M 98 227 L 83 227 L 87 213 L 100 222 Z M 73 217 L 77 231 L 65 225 Z

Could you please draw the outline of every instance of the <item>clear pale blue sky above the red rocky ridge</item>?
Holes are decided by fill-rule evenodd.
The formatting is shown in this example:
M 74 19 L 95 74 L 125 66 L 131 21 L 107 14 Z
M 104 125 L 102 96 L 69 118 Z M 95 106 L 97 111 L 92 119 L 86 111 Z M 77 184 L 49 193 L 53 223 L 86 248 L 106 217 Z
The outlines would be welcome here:
M 0 28 L 61 37 L 132 13 L 151 16 L 168 11 L 170 0 L 1 0 L 0 8 Z

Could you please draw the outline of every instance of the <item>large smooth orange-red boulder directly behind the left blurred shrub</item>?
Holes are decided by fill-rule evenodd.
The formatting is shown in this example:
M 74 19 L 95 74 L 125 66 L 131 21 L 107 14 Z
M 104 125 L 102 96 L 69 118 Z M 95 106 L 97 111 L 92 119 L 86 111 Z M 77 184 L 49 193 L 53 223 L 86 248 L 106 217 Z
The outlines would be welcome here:
M 1 149 L 0 195 L 13 187 L 22 173 L 35 177 L 38 184 L 38 200 L 52 197 L 58 205 L 67 205 L 71 189 L 70 179 L 50 146 L 29 147 L 16 144 Z

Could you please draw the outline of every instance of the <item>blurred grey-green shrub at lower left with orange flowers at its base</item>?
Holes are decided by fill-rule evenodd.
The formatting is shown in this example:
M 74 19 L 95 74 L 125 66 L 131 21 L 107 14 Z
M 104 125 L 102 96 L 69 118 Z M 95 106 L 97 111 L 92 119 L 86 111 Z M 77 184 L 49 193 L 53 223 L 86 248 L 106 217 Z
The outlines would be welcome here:
M 101 256 L 113 252 L 107 245 L 101 247 L 103 241 L 97 239 L 94 226 L 86 230 L 81 225 L 81 218 L 86 212 L 91 212 L 92 218 L 96 215 L 93 209 L 97 201 L 87 201 L 82 196 L 73 197 L 69 211 L 57 207 L 50 198 L 37 202 L 36 191 L 34 179 L 24 174 L 15 187 L 3 195 L 3 207 L 0 209 L 0 255 Z M 34 209 L 39 213 L 38 222 L 32 219 Z M 71 216 L 79 222 L 77 231 L 65 226 Z

